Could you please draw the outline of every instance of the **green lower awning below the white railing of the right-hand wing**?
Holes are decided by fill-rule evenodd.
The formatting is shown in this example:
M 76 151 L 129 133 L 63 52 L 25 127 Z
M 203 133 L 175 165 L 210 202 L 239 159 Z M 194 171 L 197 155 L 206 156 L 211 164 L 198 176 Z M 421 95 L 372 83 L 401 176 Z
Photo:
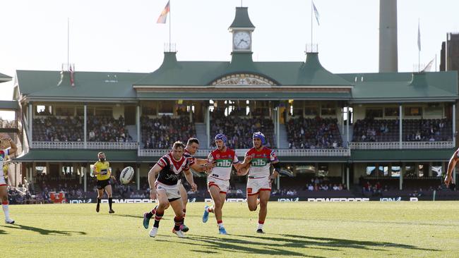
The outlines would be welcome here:
M 353 162 L 369 161 L 448 161 L 454 149 L 352 149 Z

